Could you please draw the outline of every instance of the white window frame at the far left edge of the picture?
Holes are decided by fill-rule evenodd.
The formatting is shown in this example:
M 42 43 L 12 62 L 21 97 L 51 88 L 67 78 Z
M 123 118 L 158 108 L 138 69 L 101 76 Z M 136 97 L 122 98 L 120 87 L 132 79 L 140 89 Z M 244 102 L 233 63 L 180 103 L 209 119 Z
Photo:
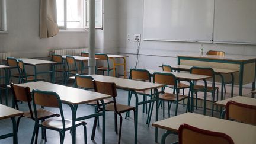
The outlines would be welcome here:
M 7 11 L 6 11 L 6 0 L 0 0 L 1 2 L 1 27 L 0 27 L 0 33 L 6 33 L 7 32 Z

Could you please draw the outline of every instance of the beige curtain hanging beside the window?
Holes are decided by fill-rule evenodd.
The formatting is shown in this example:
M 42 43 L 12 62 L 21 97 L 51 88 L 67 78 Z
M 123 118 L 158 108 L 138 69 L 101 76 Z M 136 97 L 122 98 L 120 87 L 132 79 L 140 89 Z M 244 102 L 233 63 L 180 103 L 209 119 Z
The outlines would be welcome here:
M 40 0 L 40 38 L 59 33 L 56 0 Z

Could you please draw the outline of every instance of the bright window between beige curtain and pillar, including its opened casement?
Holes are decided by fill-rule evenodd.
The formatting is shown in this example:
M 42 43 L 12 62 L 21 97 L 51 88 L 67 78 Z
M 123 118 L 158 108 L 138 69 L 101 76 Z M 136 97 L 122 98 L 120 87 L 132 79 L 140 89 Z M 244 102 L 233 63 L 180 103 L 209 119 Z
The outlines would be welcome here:
M 64 30 L 89 27 L 89 0 L 57 0 L 57 23 Z M 103 28 L 103 0 L 95 0 L 95 28 Z

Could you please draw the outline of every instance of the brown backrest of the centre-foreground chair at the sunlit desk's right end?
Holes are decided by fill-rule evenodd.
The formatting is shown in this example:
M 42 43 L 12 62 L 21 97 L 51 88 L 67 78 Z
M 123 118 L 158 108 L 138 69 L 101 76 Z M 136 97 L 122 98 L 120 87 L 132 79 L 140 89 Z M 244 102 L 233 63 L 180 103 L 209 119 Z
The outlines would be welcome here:
M 117 96 L 116 84 L 114 82 L 100 82 L 94 80 L 93 83 L 95 92 L 111 95 L 112 97 Z

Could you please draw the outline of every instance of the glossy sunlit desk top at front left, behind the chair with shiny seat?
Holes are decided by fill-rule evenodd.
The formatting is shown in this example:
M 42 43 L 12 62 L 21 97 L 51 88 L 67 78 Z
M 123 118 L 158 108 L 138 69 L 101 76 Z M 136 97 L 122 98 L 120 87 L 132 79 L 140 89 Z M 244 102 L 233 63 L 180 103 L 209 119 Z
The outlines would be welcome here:
M 110 95 L 100 94 L 93 91 L 86 91 L 84 89 L 67 87 L 64 85 L 52 84 L 49 82 L 28 82 L 24 84 L 18 84 L 20 86 L 30 87 L 30 91 L 33 89 L 39 89 L 42 91 L 53 91 L 56 92 L 63 103 L 68 104 L 82 104 L 91 101 L 102 100 L 105 98 L 111 98 Z

